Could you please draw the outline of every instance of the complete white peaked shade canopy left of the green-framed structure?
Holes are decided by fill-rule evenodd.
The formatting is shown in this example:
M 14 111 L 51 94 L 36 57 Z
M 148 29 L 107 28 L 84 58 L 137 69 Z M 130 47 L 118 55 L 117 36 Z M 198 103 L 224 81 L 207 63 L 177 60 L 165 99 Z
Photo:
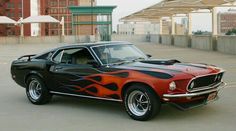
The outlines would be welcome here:
M 60 23 L 60 21 L 49 15 L 40 15 L 27 17 L 20 21 L 20 23 Z

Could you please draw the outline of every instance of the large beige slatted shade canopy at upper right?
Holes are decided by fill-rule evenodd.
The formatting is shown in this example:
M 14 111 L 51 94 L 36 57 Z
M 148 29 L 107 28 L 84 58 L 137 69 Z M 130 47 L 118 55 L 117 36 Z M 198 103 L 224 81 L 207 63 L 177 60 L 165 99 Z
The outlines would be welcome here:
M 146 9 L 121 18 L 121 21 L 159 21 L 162 17 L 188 14 L 200 9 L 230 6 L 236 0 L 163 0 Z

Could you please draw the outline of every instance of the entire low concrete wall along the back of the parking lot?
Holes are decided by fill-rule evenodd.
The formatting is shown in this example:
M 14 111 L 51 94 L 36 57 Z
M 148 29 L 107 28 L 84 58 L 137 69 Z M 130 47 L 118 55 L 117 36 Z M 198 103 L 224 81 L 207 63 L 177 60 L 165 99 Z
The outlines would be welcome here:
M 86 43 L 94 41 L 95 36 L 43 36 L 43 37 L 0 37 L 0 45 L 2 44 L 55 44 L 55 43 Z M 150 42 L 171 45 L 179 47 L 190 47 L 201 50 L 210 50 L 214 48 L 216 51 L 235 54 L 236 55 L 236 36 L 218 36 L 216 43 L 214 44 L 212 36 L 192 36 L 191 40 L 185 35 L 151 35 Z M 113 35 L 113 41 L 129 41 L 133 43 L 148 42 L 146 35 Z M 191 41 L 191 42 L 190 42 Z M 191 44 L 191 46 L 189 46 Z M 214 45 L 214 46 L 213 46 Z

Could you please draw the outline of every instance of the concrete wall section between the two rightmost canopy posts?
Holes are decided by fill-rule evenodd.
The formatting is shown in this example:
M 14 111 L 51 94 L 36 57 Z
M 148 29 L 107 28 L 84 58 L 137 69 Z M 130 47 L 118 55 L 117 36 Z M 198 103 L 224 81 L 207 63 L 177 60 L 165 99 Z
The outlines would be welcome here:
M 213 50 L 212 36 L 192 36 L 191 47 L 201 50 Z

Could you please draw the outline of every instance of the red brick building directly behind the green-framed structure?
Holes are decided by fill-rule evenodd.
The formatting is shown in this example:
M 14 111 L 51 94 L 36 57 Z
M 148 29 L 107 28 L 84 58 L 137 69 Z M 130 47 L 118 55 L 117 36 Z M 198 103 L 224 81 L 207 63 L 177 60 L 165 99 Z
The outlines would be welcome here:
M 95 6 L 96 0 L 40 0 L 39 1 L 40 15 L 50 15 L 55 19 L 61 21 L 62 17 L 65 20 L 65 35 L 73 35 L 72 29 L 72 14 L 69 6 Z M 92 19 L 89 16 L 81 16 L 80 20 Z M 58 23 L 40 24 L 40 34 L 42 36 L 60 35 L 61 25 Z M 81 26 L 81 31 L 76 33 L 78 35 L 91 35 L 91 25 Z

